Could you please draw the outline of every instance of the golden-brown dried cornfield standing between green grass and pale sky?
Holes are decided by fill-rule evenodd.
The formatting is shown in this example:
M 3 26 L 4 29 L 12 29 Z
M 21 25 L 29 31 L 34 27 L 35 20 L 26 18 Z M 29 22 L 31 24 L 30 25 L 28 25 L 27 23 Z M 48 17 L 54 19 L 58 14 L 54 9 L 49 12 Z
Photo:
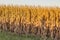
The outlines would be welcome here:
M 0 29 L 60 40 L 60 8 L 0 6 Z

